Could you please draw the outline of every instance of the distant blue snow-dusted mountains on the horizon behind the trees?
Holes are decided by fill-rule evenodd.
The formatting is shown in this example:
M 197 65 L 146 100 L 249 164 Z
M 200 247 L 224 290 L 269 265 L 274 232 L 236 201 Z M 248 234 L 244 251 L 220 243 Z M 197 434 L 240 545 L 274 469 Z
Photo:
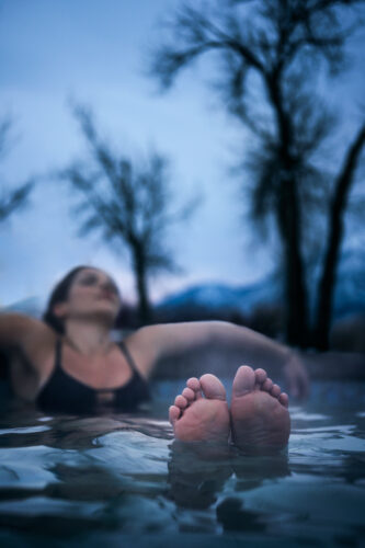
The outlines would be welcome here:
M 334 295 L 334 321 L 345 317 L 365 315 L 365 264 L 357 255 L 344 254 L 340 263 Z M 252 315 L 270 316 L 270 310 L 281 309 L 282 284 L 278 276 L 246 285 L 231 286 L 224 283 L 207 283 L 176 292 L 155 307 L 157 321 L 221 318 L 238 322 L 249 320 Z M 15 302 L 5 310 L 20 311 L 41 318 L 44 301 L 31 297 Z

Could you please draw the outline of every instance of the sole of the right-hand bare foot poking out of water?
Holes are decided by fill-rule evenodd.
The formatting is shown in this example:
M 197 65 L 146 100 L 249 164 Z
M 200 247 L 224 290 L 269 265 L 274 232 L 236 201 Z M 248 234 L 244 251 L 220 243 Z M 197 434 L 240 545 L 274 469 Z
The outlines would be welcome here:
M 288 442 L 288 396 L 264 369 L 242 365 L 232 385 L 230 408 L 232 443 L 244 453 L 277 453 Z

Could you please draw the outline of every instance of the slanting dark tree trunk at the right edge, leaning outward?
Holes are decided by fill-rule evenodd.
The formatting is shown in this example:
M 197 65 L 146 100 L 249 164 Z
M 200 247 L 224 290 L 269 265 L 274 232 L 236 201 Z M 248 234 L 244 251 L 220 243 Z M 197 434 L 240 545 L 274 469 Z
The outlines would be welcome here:
M 343 216 L 347 197 L 354 180 L 357 161 L 365 144 L 365 124 L 351 144 L 343 167 L 337 179 L 329 214 L 329 237 L 324 252 L 322 274 L 318 284 L 316 326 L 313 344 L 319 350 L 328 350 L 331 328 L 333 295 L 337 270 L 343 240 Z

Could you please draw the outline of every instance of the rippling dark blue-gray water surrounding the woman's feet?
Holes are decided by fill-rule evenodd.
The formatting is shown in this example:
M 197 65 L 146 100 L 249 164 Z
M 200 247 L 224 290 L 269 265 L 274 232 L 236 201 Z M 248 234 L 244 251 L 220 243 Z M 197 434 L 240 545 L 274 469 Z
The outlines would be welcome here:
M 156 385 L 139 416 L 8 406 L 0 546 L 363 546 L 364 385 L 315 383 L 290 407 L 287 453 L 266 457 L 173 444 L 164 412 L 181 387 Z

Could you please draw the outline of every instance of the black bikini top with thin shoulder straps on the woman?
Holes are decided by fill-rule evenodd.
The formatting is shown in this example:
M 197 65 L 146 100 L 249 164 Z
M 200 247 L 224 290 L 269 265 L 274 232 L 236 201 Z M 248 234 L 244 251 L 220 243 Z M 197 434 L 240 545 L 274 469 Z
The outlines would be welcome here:
M 61 341 L 56 343 L 55 369 L 42 388 L 36 402 L 42 411 L 95 413 L 105 409 L 134 411 L 150 398 L 147 381 L 139 375 L 134 359 L 122 342 L 118 344 L 133 372 L 130 380 L 119 388 L 91 388 L 62 369 Z

